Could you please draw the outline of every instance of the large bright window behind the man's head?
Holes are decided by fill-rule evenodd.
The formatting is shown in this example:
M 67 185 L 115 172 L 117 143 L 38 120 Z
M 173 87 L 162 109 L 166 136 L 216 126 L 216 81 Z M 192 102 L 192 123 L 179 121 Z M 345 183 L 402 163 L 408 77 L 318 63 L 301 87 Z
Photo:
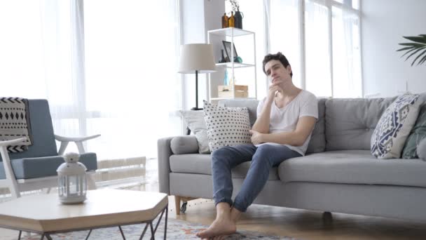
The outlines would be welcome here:
M 296 86 L 317 97 L 362 97 L 359 0 L 259 2 L 240 1 L 243 27 L 256 32 L 259 98 L 267 86 L 263 56 L 278 51 L 289 59 Z M 229 4 L 226 12 L 231 12 Z

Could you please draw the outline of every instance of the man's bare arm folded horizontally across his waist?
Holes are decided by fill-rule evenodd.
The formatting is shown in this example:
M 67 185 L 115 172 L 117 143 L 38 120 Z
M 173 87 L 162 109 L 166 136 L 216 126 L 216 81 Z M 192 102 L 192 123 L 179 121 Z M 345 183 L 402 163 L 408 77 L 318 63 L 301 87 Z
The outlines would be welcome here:
M 282 145 L 301 146 L 312 132 L 317 120 L 313 116 L 302 116 L 298 119 L 294 131 L 283 133 L 260 133 L 252 131 L 253 144 L 275 142 Z

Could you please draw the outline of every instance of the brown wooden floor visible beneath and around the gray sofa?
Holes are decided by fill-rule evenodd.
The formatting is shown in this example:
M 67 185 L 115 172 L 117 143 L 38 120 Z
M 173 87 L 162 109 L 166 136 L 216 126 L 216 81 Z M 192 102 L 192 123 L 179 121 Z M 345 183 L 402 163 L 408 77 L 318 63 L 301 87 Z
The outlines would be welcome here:
M 147 162 L 146 185 L 133 190 L 158 191 L 156 162 Z M 186 213 L 176 215 L 174 197 L 169 196 L 169 217 L 209 225 L 215 217 L 214 203 L 207 199 L 188 202 Z M 425 203 L 426 209 L 426 203 Z M 425 211 L 422 209 L 422 211 Z M 238 229 L 264 232 L 296 239 L 426 239 L 426 222 L 321 212 L 292 208 L 252 205 L 238 222 Z M 1 229 L 0 239 L 16 239 L 18 232 Z

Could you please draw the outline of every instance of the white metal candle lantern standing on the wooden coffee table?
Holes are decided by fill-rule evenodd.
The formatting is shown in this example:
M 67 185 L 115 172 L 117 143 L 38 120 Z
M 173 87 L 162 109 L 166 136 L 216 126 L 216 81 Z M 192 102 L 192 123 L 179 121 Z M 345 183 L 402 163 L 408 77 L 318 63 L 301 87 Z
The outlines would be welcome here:
M 87 179 L 84 164 L 78 162 L 80 155 L 65 154 L 64 163 L 57 168 L 59 199 L 62 204 L 78 204 L 85 200 Z

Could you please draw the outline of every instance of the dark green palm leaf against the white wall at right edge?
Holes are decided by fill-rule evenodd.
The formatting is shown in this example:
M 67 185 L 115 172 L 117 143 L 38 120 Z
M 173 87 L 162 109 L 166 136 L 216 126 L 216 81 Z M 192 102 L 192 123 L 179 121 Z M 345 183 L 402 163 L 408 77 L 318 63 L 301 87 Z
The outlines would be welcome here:
M 415 54 L 418 54 L 420 51 L 424 50 L 426 48 L 426 34 L 420 34 L 418 36 L 403 36 L 404 39 L 408 39 L 411 42 L 409 43 L 402 43 L 399 44 L 401 46 L 404 46 L 403 48 L 399 48 L 397 51 L 406 51 L 404 55 L 407 55 L 408 53 L 411 53 L 408 55 L 408 57 L 405 60 L 408 60 L 408 58 L 411 58 Z M 422 51 L 417 55 L 417 57 L 413 60 L 411 63 L 411 66 L 414 65 L 415 61 L 418 60 L 417 65 L 422 64 L 426 61 L 426 50 Z M 404 57 L 404 55 L 401 56 Z M 414 57 L 413 57 L 414 58 Z

